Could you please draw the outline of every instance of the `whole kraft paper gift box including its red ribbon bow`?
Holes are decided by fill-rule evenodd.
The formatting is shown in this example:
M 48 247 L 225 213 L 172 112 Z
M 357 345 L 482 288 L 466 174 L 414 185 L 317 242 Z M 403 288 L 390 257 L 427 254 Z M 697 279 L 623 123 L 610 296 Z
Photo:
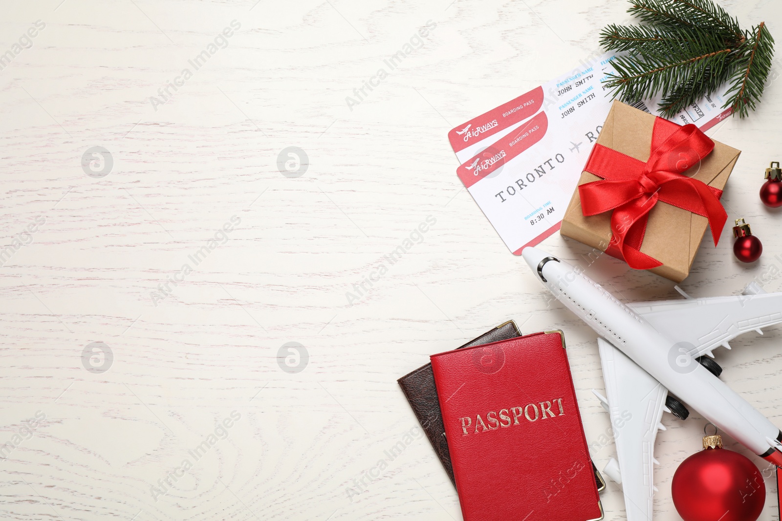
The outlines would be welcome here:
M 614 102 L 562 219 L 562 235 L 680 282 L 711 226 L 719 241 L 727 215 L 719 203 L 741 151 Z

